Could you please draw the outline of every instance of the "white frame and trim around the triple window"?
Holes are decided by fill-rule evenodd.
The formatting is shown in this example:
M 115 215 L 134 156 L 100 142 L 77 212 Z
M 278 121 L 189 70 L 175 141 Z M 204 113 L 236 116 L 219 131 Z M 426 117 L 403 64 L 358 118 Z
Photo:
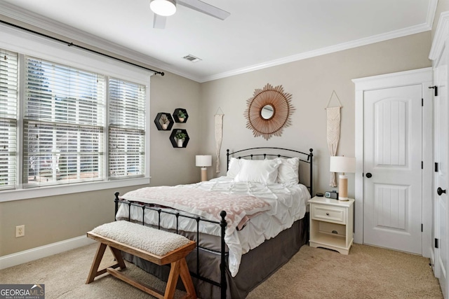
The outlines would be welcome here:
M 149 132 L 150 132 L 150 77 L 153 75 L 145 69 L 133 67 L 130 64 L 113 60 L 111 58 L 103 57 L 90 53 L 79 48 L 69 47 L 65 43 L 46 39 L 36 34 L 24 32 L 20 29 L 8 27 L 7 25 L 0 25 L 2 39 L 0 41 L 0 48 L 9 50 L 19 54 L 19 68 L 24 63 L 23 56 L 29 55 L 32 57 L 39 57 L 42 60 L 69 65 L 86 71 L 96 72 L 111 78 L 117 78 L 123 81 L 129 81 L 145 85 L 145 174 L 143 177 L 127 178 L 127 179 L 110 179 L 105 177 L 102 181 L 71 183 L 56 186 L 41 186 L 37 188 L 22 188 L 20 181 L 15 190 L 1 190 L 0 202 L 7 202 L 11 200 L 24 200 L 34 197 L 47 197 L 54 195 L 65 195 L 71 193 L 81 193 L 94 190 L 105 190 L 110 188 L 122 188 L 128 186 L 138 186 L 149 184 L 150 181 L 150 165 L 149 165 Z M 19 85 L 25 80 L 25 74 L 19 74 Z M 20 88 L 18 91 L 18 163 L 17 168 L 20 171 L 18 177 L 22 173 L 22 139 L 23 139 L 23 95 L 24 89 Z M 105 130 L 107 130 L 109 123 L 106 121 Z M 105 146 L 107 146 L 107 139 L 105 139 Z

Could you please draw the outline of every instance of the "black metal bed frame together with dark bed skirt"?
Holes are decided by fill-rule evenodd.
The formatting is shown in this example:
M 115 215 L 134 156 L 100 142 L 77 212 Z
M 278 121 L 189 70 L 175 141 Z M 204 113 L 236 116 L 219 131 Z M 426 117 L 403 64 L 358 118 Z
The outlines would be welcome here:
M 263 153 L 261 151 L 266 150 L 276 150 L 279 153 Z M 253 152 L 251 154 L 246 154 L 248 151 Z M 250 159 L 263 159 L 268 157 L 281 157 L 281 158 L 292 158 L 291 155 L 301 156 L 305 158 L 300 158 L 300 162 L 307 163 L 309 166 L 309 181 L 304 183 L 307 188 L 309 188 L 310 194 L 312 194 L 313 186 L 313 176 L 312 176 L 312 158 L 313 153 L 310 148 L 310 153 L 303 153 L 300 151 L 290 150 L 286 148 L 272 148 L 272 147 L 260 147 L 260 148 L 248 148 L 241 151 L 235 151 L 229 153 L 227 150 L 227 167 L 229 167 L 229 159 L 234 158 L 250 158 Z M 237 156 L 237 154 L 239 154 Z M 300 170 L 302 167 L 300 166 Z M 304 175 L 300 174 L 300 178 Z M 304 182 L 304 180 L 302 180 Z M 161 215 L 172 214 L 177 217 L 187 217 L 196 220 L 196 237 L 197 248 L 195 251 L 187 256 L 187 264 L 189 265 L 189 270 L 192 274 L 192 280 L 194 281 L 196 287 L 196 293 L 200 298 L 245 298 L 248 293 L 253 290 L 256 286 L 261 284 L 265 279 L 267 279 L 271 274 L 276 272 L 282 265 L 288 262 L 291 257 L 300 250 L 300 247 L 308 242 L 308 215 L 304 218 L 293 223 L 291 228 L 283 230 L 276 237 L 266 240 L 260 246 L 255 249 L 250 250 L 248 253 L 243 254 L 241 258 L 241 264 L 239 267 L 239 272 L 236 277 L 232 277 L 227 267 L 227 246 L 225 244 L 225 228 L 226 212 L 222 211 L 220 216 L 222 216 L 222 221 L 208 221 L 201 219 L 199 217 L 185 216 L 180 213 L 173 213 L 169 211 L 163 211 L 156 207 L 151 207 L 147 204 L 143 205 L 136 202 L 128 202 L 127 200 L 120 200 L 119 193 L 115 193 L 115 212 L 121 204 L 129 204 L 129 206 L 134 205 L 142 207 L 142 211 L 145 214 L 146 209 L 152 209 L 159 213 L 159 223 Z M 143 219 L 143 218 L 142 218 Z M 130 221 L 130 217 L 128 217 Z M 221 225 L 221 237 L 220 237 L 220 250 L 210 249 L 207 246 L 201 245 L 201 234 L 199 234 L 199 225 L 201 221 L 207 221 L 209 223 L 216 223 Z M 143 220 L 142 220 L 143 222 Z M 143 224 L 143 223 L 142 223 Z M 159 226 L 159 225 L 158 225 Z M 160 229 L 160 227 L 159 227 Z M 176 229 L 176 233 L 178 232 Z M 159 279 L 168 279 L 168 267 L 154 266 L 151 263 L 147 263 L 145 260 L 140 260 L 135 256 L 130 256 L 128 253 L 123 253 L 123 257 L 129 260 L 135 265 L 138 265 L 145 271 L 154 274 Z M 194 270 L 192 270 L 194 269 Z M 182 284 L 178 285 L 182 288 Z

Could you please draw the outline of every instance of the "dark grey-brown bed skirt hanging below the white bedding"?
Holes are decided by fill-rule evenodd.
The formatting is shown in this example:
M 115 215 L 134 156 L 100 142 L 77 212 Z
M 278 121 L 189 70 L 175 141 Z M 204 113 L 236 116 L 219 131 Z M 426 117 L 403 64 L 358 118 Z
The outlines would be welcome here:
M 276 270 L 292 258 L 301 246 L 309 242 L 309 217 L 293 223 L 291 228 L 283 230 L 273 239 L 268 239 L 260 246 L 243 254 L 239 272 L 232 277 L 227 270 L 227 298 L 246 298 L 256 286 L 270 277 Z M 129 253 L 122 253 L 123 258 L 146 272 L 167 281 L 170 267 L 157 266 Z M 189 269 L 196 269 L 196 254 L 187 256 Z M 210 251 L 200 251 L 200 272 L 204 277 L 220 281 L 220 255 Z M 199 298 L 220 298 L 220 287 L 192 277 Z M 181 281 L 177 288 L 183 289 Z

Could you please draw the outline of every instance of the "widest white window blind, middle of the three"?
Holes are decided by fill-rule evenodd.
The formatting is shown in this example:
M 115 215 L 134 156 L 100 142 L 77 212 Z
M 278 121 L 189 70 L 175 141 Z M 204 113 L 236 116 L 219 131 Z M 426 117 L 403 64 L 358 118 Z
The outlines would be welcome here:
M 25 62 L 24 187 L 104 179 L 105 77 Z

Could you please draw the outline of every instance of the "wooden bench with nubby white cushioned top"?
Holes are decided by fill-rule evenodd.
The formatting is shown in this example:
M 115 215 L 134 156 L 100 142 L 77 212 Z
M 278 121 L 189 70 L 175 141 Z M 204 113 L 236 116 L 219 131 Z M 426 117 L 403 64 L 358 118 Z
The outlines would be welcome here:
M 185 256 L 192 251 L 196 243 L 184 236 L 156 230 L 145 225 L 128 221 L 115 221 L 106 223 L 87 232 L 87 237 L 100 242 L 97 253 L 91 266 L 86 284 L 91 283 L 98 275 L 108 272 L 128 284 L 140 288 L 140 290 L 153 295 L 156 298 L 173 298 L 177 279 L 181 276 L 187 295 L 185 298 L 196 298 L 196 292 L 190 277 Z M 98 270 L 106 247 L 112 251 L 116 263 L 103 270 Z M 117 267 L 126 268 L 120 251 L 125 251 L 151 263 L 166 265 L 170 263 L 170 274 L 165 293 L 157 291 L 150 286 L 141 284 L 126 274 L 115 270 Z

